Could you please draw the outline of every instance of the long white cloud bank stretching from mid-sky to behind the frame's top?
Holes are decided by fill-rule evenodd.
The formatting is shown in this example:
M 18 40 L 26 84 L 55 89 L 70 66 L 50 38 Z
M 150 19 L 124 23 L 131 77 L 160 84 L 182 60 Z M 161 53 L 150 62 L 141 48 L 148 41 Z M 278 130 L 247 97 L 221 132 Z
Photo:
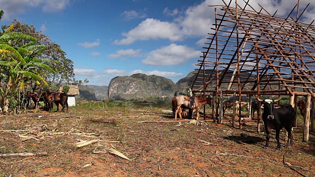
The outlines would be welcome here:
M 310 0 L 300 0 L 300 11 L 302 11 Z M 269 13 L 273 14 L 277 9 L 276 16 L 284 16 L 288 14 L 297 3 L 297 0 L 251 0 L 250 4 L 255 10 L 260 10 L 261 4 Z M 114 44 L 131 44 L 138 40 L 150 40 L 150 39 L 169 39 L 171 41 L 179 41 L 191 36 L 206 36 L 207 33 L 214 32 L 213 24 L 215 23 L 215 7 L 209 7 L 208 5 L 221 4 L 221 0 L 204 0 L 199 4 L 194 4 L 186 9 L 183 16 L 178 17 L 173 22 L 161 22 L 158 19 L 146 19 L 142 21 L 136 28 L 123 33 L 126 38 L 121 40 L 115 40 Z M 238 1 L 240 6 L 244 6 L 244 1 Z M 231 3 L 232 7 L 235 7 L 235 2 Z M 250 6 L 246 7 L 248 10 L 252 10 Z M 220 8 L 218 13 L 223 14 Z M 177 9 L 169 10 L 167 7 L 164 9 L 165 15 L 178 15 Z M 266 12 L 262 10 L 262 13 Z M 315 16 L 315 3 L 311 3 L 308 9 L 304 12 L 301 22 L 310 23 Z M 219 17 L 220 18 L 220 17 Z M 199 41 L 201 42 L 201 41 Z M 199 44 L 199 43 L 198 43 Z

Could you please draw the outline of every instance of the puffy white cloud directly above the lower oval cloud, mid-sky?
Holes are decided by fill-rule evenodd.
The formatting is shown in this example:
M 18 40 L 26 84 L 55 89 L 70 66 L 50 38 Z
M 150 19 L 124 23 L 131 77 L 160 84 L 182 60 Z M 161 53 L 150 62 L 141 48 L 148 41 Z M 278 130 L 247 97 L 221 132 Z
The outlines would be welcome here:
M 123 33 L 125 39 L 115 40 L 114 44 L 131 44 L 137 40 L 169 39 L 171 41 L 181 40 L 180 29 L 174 23 L 161 22 L 157 19 L 147 18 L 136 28 Z

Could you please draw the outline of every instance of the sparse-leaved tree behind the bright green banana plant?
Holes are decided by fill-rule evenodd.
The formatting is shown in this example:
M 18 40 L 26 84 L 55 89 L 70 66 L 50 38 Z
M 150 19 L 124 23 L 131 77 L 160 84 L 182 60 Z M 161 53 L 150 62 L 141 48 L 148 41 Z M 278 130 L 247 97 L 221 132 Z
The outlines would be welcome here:
M 39 58 L 51 59 L 45 62 L 56 73 L 46 73 L 43 77 L 47 81 L 48 89 L 58 89 L 62 83 L 69 84 L 74 79 L 73 61 L 67 59 L 66 53 L 61 49 L 61 46 L 52 42 L 49 36 L 46 36 L 41 31 L 36 31 L 33 25 L 21 24 L 16 19 L 12 22 L 14 24 L 14 32 L 22 32 L 37 39 L 37 44 L 45 45 L 47 50 L 41 53 Z M 8 26 L 2 26 L 2 29 L 7 29 Z M 58 61 L 58 62 L 51 62 Z M 57 86 L 56 86 L 57 84 Z M 36 82 L 30 83 L 33 91 L 38 88 Z M 55 88 L 53 88 L 55 87 Z

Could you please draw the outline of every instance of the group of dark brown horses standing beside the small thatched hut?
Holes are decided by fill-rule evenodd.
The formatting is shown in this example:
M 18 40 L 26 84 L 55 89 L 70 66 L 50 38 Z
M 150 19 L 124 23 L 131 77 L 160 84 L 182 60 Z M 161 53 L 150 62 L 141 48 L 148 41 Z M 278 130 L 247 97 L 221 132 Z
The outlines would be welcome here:
M 53 103 L 57 105 L 57 111 L 59 111 L 59 104 L 62 105 L 64 112 L 64 108 L 67 107 L 68 110 L 68 95 L 63 92 L 51 92 L 51 91 L 44 91 L 44 92 L 32 92 L 27 91 L 21 95 L 22 97 L 22 105 L 25 105 L 26 108 L 29 107 L 31 99 L 34 103 L 34 109 L 38 109 L 38 102 L 44 102 L 44 110 L 51 111 L 53 109 Z

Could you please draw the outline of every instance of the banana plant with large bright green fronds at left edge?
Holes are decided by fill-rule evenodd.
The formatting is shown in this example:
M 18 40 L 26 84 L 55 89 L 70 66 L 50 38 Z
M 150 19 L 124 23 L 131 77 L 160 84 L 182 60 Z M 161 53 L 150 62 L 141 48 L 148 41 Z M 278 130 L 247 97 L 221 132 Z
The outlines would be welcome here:
M 2 10 L 0 16 L 1 14 Z M 10 103 L 16 105 L 18 92 L 24 88 L 26 82 L 34 80 L 37 83 L 46 83 L 42 75 L 43 69 L 55 72 L 45 64 L 51 62 L 50 59 L 37 58 L 46 47 L 37 45 L 35 37 L 12 32 L 13 28 L 14 24 L 11 24 L 0 32 L 0 107 L 3 107 L 4 112 L 9 110 Z M 15 109 L 14 106 L 10 108 Z

